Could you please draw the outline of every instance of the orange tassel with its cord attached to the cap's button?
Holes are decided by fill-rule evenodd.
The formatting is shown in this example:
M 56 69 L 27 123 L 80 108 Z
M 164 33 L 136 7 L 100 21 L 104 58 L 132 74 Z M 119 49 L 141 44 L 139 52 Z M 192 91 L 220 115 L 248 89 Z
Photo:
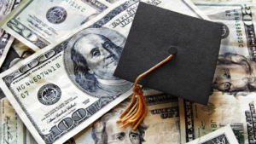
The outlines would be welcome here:
M 116 122 L 117 123 L 122 123 L 123 125 L 120 127 L 120 129 L 124 128 L 126 125 L 128 124 L 135 124 L 135 126 L 133 127 L 133 130 L 137 129 L 137 126 L 143 121 L 143 118 L 146 117 L 147 114 L 147 105 L 146 105 L 146 100 L 145 97 L 143 96 L 143 89 L 137 85 L 137 82 L 140 78 L 142 78 L 143 76 L 145 76 L 146 74 L 148 74 L 149 72 L 152 72 L 154 69 L 156 69 L 157 67 L 161 66 L 162 64 L 166 63 L 166 61 L 170 60 L 172 58 L 173 55 L 169 55 L 166 60 L 161 61 L 159 64 L 157 64 L 156 66 L 150 68 L 147 72 L 144 72 L 143 74 L 141 74 L 135 81 L 134 87 L 133 87 L 133 95 L 132 95 L 132 100 L 131 100 L 131 104 L 125 109 L 125 111 L 123 113 L 120 114 L 119 119 Z M 135 103 L 135 105 L 133 107 L 132 104 L 135 101 L 135 97 L 137 95 L 137 101 Z M 131 108 L 131 109 L 130 109 Z M 128 112 L 129 111 L 129 112 Z M 126 115 L 125 113 L 128 112 Z

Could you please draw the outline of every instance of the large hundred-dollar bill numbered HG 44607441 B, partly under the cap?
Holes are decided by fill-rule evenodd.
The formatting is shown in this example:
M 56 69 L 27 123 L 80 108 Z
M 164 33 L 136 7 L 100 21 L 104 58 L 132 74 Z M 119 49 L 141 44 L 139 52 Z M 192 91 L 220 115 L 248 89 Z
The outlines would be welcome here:
M 203 18 L 189 1 L 159 2 L 152 4 Z M 67 141 L 131 95 L 133 84 L 113 72 L 138 3 L 114 3 L 0 75 L 3 92 L 38 143 Z

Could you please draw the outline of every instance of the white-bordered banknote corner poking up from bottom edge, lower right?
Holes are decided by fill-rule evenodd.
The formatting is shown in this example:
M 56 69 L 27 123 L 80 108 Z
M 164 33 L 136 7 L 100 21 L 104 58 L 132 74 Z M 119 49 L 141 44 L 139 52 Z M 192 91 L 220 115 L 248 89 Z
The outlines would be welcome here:
M 224 143 L 224 144 L 238 144 L 236 136 L 231 130 L 230 126 L 225 126 L 219 130 L 216 130 L 208 135 L 202 136 L 195 141 L 190 141 L 187 144 L 212 144 L 212 143 Z

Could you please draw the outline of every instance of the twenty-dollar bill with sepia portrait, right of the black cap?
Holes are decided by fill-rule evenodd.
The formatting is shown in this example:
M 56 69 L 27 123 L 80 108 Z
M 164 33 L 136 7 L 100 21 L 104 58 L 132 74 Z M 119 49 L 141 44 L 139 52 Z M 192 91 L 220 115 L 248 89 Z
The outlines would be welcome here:
M 212 88 L 232 95 L 255 91 L 255 15 L 253 4 L 194 1 L 212 20 L 224 25 Z

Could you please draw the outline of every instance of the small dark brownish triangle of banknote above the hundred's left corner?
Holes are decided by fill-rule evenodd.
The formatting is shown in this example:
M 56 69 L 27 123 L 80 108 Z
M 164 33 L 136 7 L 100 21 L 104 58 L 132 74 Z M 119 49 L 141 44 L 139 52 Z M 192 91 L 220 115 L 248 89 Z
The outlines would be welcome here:
M 9 69 L 9 67 L 14 66 L 20 60 L 26 59 L 26 57 L 34 54 L 35 52 L 27 47 L 24 43 L 21 43 L 15 38 L 12 43 L 9 52 L 0 68 L 0 72 L 4 72 Z

